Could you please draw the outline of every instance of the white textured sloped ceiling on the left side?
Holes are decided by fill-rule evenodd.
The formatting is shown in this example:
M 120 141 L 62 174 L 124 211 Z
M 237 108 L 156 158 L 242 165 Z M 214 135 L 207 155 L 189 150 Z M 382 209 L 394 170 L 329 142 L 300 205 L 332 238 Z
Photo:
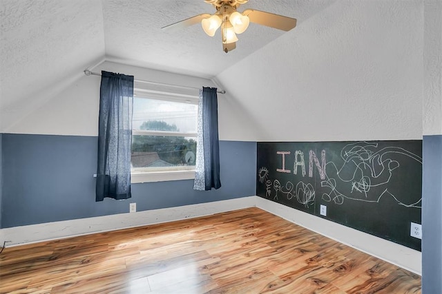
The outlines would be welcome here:
M 101 1 L 2 0 L 0 8 L 3 122 L 34 111 L 104 58 Z

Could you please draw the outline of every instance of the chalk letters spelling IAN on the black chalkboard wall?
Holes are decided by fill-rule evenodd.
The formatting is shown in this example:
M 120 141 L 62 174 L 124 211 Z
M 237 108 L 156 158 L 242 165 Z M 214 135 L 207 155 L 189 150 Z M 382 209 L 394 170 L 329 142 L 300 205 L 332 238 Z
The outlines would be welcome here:
M 282 156 L 282 168 L 276 169 L 276 171 L 280 173 L 291 173 L 290 169 L 285 169 L 285 156 L 290 155 L 290 151 L 277 151 L 276 154 Z M 320 153 L 320 161 L 318 160 L 318 157 L 314 153 L 313 150 L 309 151 L 309 177 L 313 178 L 313 162 L 316 165 L 316 168 L 319 172 L 319 177 L 321 180 L 325 180 L 325 150 L 321 151 Z M 295 151 L 295 158 L 294 158 L 294 174 L 298 174 L 298 167 L 301 169 L 302 176 L 305 176 L 305 160 L 304 160 L 304 152 L 301 150 Z

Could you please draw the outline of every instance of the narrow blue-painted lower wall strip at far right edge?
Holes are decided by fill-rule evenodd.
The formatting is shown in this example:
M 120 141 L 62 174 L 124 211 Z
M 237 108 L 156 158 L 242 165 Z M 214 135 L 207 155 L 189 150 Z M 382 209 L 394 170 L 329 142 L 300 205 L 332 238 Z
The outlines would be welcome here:
M 423 137 L 422 292 L 442 289 L 442 136 Z

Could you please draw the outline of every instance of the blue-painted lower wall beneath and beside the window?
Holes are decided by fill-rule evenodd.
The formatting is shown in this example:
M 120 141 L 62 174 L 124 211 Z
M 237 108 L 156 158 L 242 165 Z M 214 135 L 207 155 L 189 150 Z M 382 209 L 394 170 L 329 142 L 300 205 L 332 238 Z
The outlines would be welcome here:
M 97 137 L 3 134 L 1 227 L 177 207 L 255 195 L 256 143 L 220 142 L 222 187 L 193 180 L 132 185 L 132 198 L 95 202 Z

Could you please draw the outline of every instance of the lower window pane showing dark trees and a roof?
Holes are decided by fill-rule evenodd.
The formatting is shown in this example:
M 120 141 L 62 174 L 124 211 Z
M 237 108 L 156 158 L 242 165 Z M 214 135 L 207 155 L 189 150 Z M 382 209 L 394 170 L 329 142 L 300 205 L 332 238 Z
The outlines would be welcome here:
M 195 166 L 195 138 L 133 136 L 133 168 L 171 169 Z

